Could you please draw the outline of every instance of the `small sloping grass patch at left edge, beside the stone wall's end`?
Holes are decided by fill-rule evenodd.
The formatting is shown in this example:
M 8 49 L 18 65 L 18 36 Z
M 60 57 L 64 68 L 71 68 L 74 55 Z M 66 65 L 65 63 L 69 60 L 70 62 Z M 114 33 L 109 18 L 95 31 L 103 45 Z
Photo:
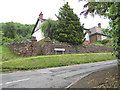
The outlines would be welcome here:
M 0 55 L 2 57 L 2 61 L 11 60 L 19 58 L 20 56 L 15 54 L 14 52 L 10 51 L 8 47 L 6 46 L 0 46 Z

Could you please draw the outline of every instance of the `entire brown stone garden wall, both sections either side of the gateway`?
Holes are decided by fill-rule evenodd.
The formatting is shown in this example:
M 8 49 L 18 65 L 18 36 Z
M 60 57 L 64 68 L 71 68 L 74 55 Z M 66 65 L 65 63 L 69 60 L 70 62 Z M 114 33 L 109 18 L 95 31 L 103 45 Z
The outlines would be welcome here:
M 60 51 L 56 53 L 55 48 L 65 49 L 64 54 L 113 52 L 112 48 L 96 45 L 88 45 L 86 47 L 79 46 L 76 51 L 71 45 L 66 43 L 52 43 L 50 39 L 46 39 L 43 45 L 41 43 L 39 44 L 35 37 L 32 37 L 30 41 L 10 43 L 8 47 L 22 57 L 63 53 Z

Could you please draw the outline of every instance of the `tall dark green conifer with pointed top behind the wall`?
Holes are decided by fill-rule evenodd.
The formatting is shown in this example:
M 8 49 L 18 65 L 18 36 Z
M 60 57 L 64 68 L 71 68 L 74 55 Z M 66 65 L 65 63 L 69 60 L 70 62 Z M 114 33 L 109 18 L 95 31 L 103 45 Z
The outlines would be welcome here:
M 70 8 L 68 2 L 59 9 L 57 18 L 59 24 L 55 39 L 73 46 L 81 45 L 85 36 L 83 25 L 80 24 L 78 16 Z

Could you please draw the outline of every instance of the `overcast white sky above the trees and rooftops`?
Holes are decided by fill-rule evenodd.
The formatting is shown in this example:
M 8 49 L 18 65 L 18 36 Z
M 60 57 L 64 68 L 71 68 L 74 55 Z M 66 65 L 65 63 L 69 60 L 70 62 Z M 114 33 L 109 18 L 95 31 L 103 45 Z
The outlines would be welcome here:
M 97 26 L 98 23 L 101 23 L 103 28 L 107 28 L 107 19 L 102 19 L 99 16 L 93 18 L 90 15 L 85 19 L 84 16 L 80 16 L 86 2 L 78 2 L 78 0 L 65 0 L 65 2 L 68 2 L 73 8 L 85 28 Z M 44 19 L 57 20 L 55 14 L 58 15 L 59 8 L 63 5 L 64 0 L 1 0 L 0 23 L 13 21 L 22 24 L 35 24 L 41 11 Z

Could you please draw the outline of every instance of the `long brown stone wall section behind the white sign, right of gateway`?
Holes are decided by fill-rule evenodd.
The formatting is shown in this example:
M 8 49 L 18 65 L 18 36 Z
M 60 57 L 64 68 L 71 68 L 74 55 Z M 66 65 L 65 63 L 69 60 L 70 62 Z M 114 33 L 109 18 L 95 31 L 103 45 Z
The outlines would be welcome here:
M 52 43 L 50 39 L 45 41 L 45 45 L 42 47 L 43 55 L 54 55 L 56 54 L 55 48 L 64 48 L 64 54 L 75 54 L 75 53 L 101 53 L 101 52 L 113 52 L 112 48 L 105 46 L 97 46 L 97 45 L 88 45 L 86 47 L 79 46 L 76 50 L 73 46 L 65 44 L 65 43 Z

